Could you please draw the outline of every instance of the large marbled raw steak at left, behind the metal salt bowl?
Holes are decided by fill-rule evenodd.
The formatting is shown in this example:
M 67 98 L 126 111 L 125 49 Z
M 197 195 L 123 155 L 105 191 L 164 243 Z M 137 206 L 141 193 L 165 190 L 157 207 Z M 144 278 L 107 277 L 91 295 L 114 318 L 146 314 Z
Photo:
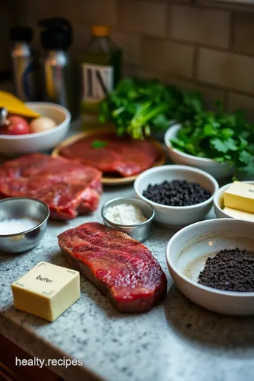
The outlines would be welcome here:
M 102 193 L 101 172 L 78 162 L 47 155 L 25 155 L 0 167 L 0 196 L 44 201 L 55 219 L 92 212 Z

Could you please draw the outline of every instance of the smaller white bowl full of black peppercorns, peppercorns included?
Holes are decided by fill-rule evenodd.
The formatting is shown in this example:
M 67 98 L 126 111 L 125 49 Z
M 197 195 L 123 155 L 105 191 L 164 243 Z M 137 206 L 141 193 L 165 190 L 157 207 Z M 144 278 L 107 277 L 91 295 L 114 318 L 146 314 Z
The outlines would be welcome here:
M 167 182 L 166 189 L 163 189 L 164 181 Z M 169 185 L 172 181 L 179 181 L 179 184 L 176 184 L 176 187 Z M 186 181 L 187 184 L 181 183 L 182 181 Z M 181 184 L 186 191 L 179 198 L 178 190 Z M 191 189 L 188 189 L 189 185 L 191 185 Z M 159 186 L 159 189 L 156 189 L 156 186 Z M 156 194 L 152 194 L 154 190 L 151 187 L 155 187 L 155 193 L 159 193 L 159 198 Z M 172 203 L 175 205 L 169 205 L 172 200 L 171 188 L 174 191 Z M 147 169 L 140 174 L 135 180 L 134 189 L 137 198 L 149 202 L 154 207 L 155 222 L 165 227 L 181 229 L 183 226 L 205 219 L 206 214 L 210 212 L 214 193 L 217 192 L 219 186 L 210 174 L 201 169 L 183 165 L 165 165 Z M 149 189 L 151 197 L 147 195 Z M 166 200 L 163 197 L 165 193 Z M 150 198 L 147 198 L 146 195 Z M 188 205 L 188 197 L 191 198 L 190 203 L 194 205 Z M 183 202 L 186 198 L 187 202 Z M 168 205 L 164 205 L 164 202 Z

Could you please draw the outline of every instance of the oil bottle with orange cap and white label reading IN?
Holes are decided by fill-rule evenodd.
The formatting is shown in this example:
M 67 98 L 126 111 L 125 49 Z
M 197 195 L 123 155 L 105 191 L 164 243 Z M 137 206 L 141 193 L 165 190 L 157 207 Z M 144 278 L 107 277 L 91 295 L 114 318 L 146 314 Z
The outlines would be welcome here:
M 80 57 L 83 116 L 97 116 L 99 103 L 121 79 L 121 49 L 111 40 L 109 27 L 94 25 L 91 34 Z

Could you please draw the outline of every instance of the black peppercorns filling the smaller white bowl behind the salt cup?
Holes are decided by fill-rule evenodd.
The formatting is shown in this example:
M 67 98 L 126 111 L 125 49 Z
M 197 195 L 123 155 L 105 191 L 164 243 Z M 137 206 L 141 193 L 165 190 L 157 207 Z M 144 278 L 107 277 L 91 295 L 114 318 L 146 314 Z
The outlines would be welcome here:
M 189 183 L 186 180 L 164 181 L 149 185 L 143 196 L 157 204 L 168 206 L 189 206 L 200 204 L 211 197 L 210 191 L 202 188 L 199 183 Z

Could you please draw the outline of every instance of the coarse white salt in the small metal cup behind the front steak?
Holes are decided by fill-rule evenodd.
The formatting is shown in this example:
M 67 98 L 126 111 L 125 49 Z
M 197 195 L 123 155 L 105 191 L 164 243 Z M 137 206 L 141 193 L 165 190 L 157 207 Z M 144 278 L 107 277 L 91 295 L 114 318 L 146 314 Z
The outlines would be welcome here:
M 108 207 L 105 217 L 109 221 L 120 225 L 134 225 L 147 221 L 140 207 L 133 204 L 119 204 Z

